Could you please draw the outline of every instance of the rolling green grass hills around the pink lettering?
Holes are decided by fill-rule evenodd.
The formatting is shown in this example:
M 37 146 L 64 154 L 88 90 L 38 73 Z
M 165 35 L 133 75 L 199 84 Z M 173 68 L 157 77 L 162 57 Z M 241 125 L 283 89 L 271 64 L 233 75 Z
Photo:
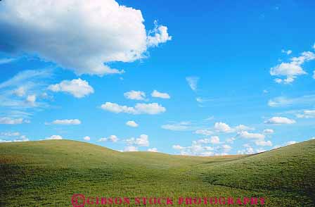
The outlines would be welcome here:
M 0 206 L 99 197 L 264 197 L 315 206 L 315 140 L 251 156 L 119 152 L 68 140 L 0 144 Z

